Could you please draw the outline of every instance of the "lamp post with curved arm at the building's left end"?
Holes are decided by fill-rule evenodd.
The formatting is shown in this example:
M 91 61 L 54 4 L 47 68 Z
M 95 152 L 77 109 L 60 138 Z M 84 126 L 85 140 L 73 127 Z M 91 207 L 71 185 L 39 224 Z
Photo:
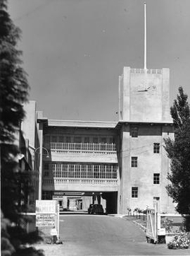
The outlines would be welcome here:
M 34 150 L 34 158 L 35 158 L 35 153 L 37 153 L 37 151 L 39 150 L 38 199 L 42 200 L 42 156 L 46 156 L 46 158 L 49 158 L 49 151 L 43 146 L 39 146 L 36 149 L 33 146 L 30 146 L 30 148 Z M 43 155 L 43 150 L 46 151 L 46 155 Z

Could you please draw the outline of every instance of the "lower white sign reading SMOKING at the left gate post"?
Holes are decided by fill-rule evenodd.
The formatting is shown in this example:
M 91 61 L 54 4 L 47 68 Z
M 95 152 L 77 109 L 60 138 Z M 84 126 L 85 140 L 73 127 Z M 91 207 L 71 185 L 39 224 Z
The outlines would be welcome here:
M 55 214 L 36 214 L 36 226 L 56 226 Z

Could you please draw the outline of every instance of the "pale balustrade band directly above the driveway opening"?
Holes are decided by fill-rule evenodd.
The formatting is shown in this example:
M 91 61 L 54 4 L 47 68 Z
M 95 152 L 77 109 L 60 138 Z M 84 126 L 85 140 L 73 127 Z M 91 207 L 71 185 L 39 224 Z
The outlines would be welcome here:
M 77 178 L 53 178 L 43 179 L 43 184 L 81 184 L 81 185 L 118 185 L 118 179 L 77 179 Z

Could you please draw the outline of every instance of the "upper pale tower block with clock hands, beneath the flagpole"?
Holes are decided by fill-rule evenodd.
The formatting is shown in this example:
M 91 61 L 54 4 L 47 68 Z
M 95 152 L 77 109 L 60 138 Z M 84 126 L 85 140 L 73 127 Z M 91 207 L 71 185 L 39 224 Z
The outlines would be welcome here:
M 120 120 L 171 121 L 170 70 L 130 69 L 125 66 L 120 78 Z

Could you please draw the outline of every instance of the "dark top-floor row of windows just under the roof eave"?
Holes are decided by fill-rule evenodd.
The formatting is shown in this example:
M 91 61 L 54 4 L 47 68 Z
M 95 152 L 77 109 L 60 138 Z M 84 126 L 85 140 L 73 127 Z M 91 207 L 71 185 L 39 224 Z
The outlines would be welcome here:
M 114 143 L 113 136 L 97 137 L 97 136 L 44 136 L 44 143 L 49 144 L 50 142 L 61 142 L 61 143 L 94 143 L 94 144 L 112 144 Z

